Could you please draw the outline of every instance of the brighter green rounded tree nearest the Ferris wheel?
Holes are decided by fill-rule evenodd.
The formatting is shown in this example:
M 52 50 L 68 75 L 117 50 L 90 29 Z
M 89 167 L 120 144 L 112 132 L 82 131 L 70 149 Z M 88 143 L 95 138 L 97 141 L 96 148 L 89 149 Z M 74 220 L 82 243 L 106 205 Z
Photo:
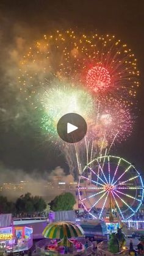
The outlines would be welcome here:
M 49 203 L 52 211 L 68 211 L 73 210 L 76 199 L 70 192 L 65 192 L 56 196 L 54 200 Z

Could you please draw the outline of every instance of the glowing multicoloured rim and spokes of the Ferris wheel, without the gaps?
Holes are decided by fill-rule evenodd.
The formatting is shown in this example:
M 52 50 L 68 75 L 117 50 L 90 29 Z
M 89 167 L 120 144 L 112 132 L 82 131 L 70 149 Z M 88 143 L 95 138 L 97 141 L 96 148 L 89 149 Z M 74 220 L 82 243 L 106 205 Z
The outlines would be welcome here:
M 99 200 L 103 199 L 103 197 L 106 195 L 106 199 L 104 200 L 104 205 L 103 205 L 102 210 L 101 210 L 101 213 L 99 214 L 99 217 L 98 217 L 99 219 L 101 218 L 101 215 L 102 215 L 103 210 L 104 210 L 104 206 L 105 206 L 106 201 L 107 201 L 107 197 L 109 196 L 109 191 L 108 191 L 108 192 L 107 192 L 107 191 L 104 192 L 103 190 L 101 190 L 101 191 L 99 191 L 99 192 L 95 192 L 95 194 L 93 194 L 92 196 L 86 197 L 85 199 L 81 199 L 81 193 L 80 193 L 80 191 L 81 191 L 81 189 L 86 189 L 86 188 L 82 188 L 82 187 L 80 186 L 80 181 L 81 181 L 81 178 L 84 178 L 85 180 L 88 180 L 88 178 L 84 177 L 84 172 L 85 172 L 86 169 L 91 169 L 91 171 L 92 171 L 93 173 L 95 173 L 95 172 L 92 170 L 92 168 L 89 167 L 89 166 L 91 166 L 91 165 L 92 165 L 93 163 L 95 163 L 95 162 L 97 162 L 98 165 L 100 166 L 100 164 L 99 164 L 99 159 L 100 159 L 100 160 L 101 160 L 101 159 L 104 159 L 104 161 L 105 161 L 106 158 L 108 159 L 108 166 L 110 166 L 110 158 L 113 158 L 113 159 L 117 159 L 117 160 L 118 160 L 118 164 L 117 164 L 117 168 L 116 168 L 116 170 L 115 170 L 115 174 L 113 175 L 113 178 L 112 178 L 112 180 L 111 180 L 111 181 L 112 181 L 112 185 L 113 185 L 113 186 L 114 186 L 114 185 L 117 186 L 117 192 L 116 192 L 116 191 L 112 191 L 112 197 L 113 197 L 113 199 L 114 199 L 114 202 L 115 202 L 116 205 L 117 205 L 118 210 L 120 211 L 120 214 L 121 214 L 123 220 L 129 219 L 129 218 L 131 218 L 135 213 L 137 213 L 137 211 L 139 210 L 140 206 L 142 205 L 144 187 L 143 187 L 142 177 L 141 177 L 140 173 L 138 172 L 138 170 L 135 168 L 134 164 L 129 163 L 129 161 L 127 161 L 127 160 L 124 159 L 124 158 L 121 158 L 120 156 L 112 156 L 112 155 L 99 156 L 98 158 L 93 159 L 90 163 L 88 163 L 88 164 L 84 167 L 84 169 L 82 170 L 82 174 L 81 174 L 80 177 L 79 177 L 79 183 L 78 183 L 79 199 L 81 200 L 81 203 L 82 203 L 83 207 L 85 208 L 85 210 L 86 210 L 89 214 L 91 214 L 91 215 L 93 216 L 93 214 L 90 213 L 90 211 L 92 210 L 92 208 L 95 207 L 95 205 L 99 202 Z M 116 181 L 114 181 L 115 175 L 116 175 L 116 173 L 117 173 L 117 170 L 118 170 L 118 167 L 119 167 L 121 161 L 123 161 L 124 163 L 128 164 L 129 167 L 128 167 L 126 170 L 124 170 L 123 174 L 122 174 L 120 177 L 118 177 L 118 179 L 117 179 Z M 100 167 L 100 168 L 101 168 L 101 167 Z M 137 175 L 136 175 L 135 177 L 132 177 L 132 178 L 126 180 L 126 181 L 121 181 L 120 183 L 118 183 L 118 181 L 121 179 L 121 177 L 123 177 L 123 175 L 126 174 L 126 172 L 128 172 L 128 170 L 131 169 L 131 168 L 134 170 L 134 172 L 137 173 Z M 100 178 L 100 181 L 103 181 L 103 183 L 105 183 L 105 184 L 107 183 L 107 185 L 111 182 L 111 181 L 110 181 L 110 167 L 108 167 L 108 169 L 109 169 L 109 177 L 107 178 L 107 177 L 104 175 L 104 172 L 103 172 L 104 181 Z M 103 171 L 103 170 L 102 170 L 102 171 Z M 95 174 L 96 174 L 96 173 L 95 173 Z M 97 175 L 97 174 L 96 174 L 96 175 Z M 97 176 L 98 176 L 98 175 L 97 175 Z M 139 187 L 137 187 L 136 185 L 135 185 L 135 186 L 132 186 L 132 187 L 129 187 L 129 186 L 126 187 L 126 185 L 124 184 L 124 183 L 126 183 L 127 181 L 135 180 L 135 179 L 137 179 L 137 178 L 139 178 L 139 183 L 140 183 L 140 186 L 139 186 Z M 108 180 L 109 180 L 109 181 L 108 181 Z M 92 187 L 92 188 L 90 188 L 90 189 L 97 189 L 97 191 L 98 191 L 98 189 L 99 189 L 99 190 L 100 190 L 100 189 L 103 189 L 104 184 L 100 183 L 100 181 L 99 181 L 99 183 L 98 183 L 99 185 L 101 185 L 100 188 L 93 188 L 93 187 Z M 92 180 L 92 182 L 95 183 L 94 180 Z M 118 183 L 118 184 L 117 184 L 117 183 Z M 136 181 L 135 181 L 135 183 L 136 183 Z M 121 187 L 120 187 L 119 185 L 121 185 Z M 124 187 L 123 187 L 123 185 L 124 185 Z M 141 198 L 141 200 L 140 200 L 140 199 L 138 199 L 138 198 L 136 198 L 136 197 L 132 197 L 132 196 L 129 195 L 129 194 L 125 194 L 123 191 L 119 191 L 120 189 L 121 189 L 121 190 L 122 190 L 122 189 L 133 189 L 133 191 L 134 191 L 134 189 L 135 189 L 135 192 L 137 192 L 137 189 L 142 189 L 142 198 Z M 92 207 L 91 207 L 89 210 L 87 210 L 87 208 L 85 207 L 85 205 L 84 205 L 84 203 L 83 203 L 84 200 L 88 200 L 89 198 L 94 197 L 94 196 L 96 196 L 96 195 L 98 196 L 98 195 L 102 194 L 102 192 L 103 192 L 104 194 L 96 201 L 96 203 L 94 203 L 94 204 L 92 205 Z M 131 205 L 128 205 L 128 203 L 126 203 L 126 202 L 123 200 L 123 198 L 121 199 L 121 197 L 120 197 L 121 195 L 122 195 L 122 196 L 126 196 L 126 197 L 130 197 L 131 199 L 133 199 L 133 201 L 132 201 L 132 207 L 133 207 L 133 205 L 134 205 L 135 200 L 136 200 L 137 202 L 139 202 L 138 207 L 137 207 L 135 210 L 132 209 Z M 116 199 L 116 197 L 117 197 L 117 199 Z M 120 210 L 120 207 L 119 207 L 119 205 L 118 205 L 118 203 L 117 203 L 117 200 L 118 200 L 118 199 L 120 199 L 121 202 L 123 202 L 124 205 L 126 205 L 126 206 L 128 207 L 128 208 L 126 208 L 125 211 L 129 211 L 129 210 L 132 211 L 132 213 L 128 216 L 128 218 L 124 218 L 124 216 L 123 216 L 124 211 L 123 211 L 123 213 L 122 213 L 122 211 Z M 95 216 L 93 216 L 93 217 L 95 217 Z

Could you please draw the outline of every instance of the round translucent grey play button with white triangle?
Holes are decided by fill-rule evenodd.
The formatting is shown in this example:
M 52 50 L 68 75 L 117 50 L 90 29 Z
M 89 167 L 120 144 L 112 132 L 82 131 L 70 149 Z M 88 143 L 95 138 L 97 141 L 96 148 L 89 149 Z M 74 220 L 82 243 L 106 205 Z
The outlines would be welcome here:
M 81 115 L 68 113 L 57 123 L 57 133 L 65 142 L 79 142 L 87 133 L 87 123 Z

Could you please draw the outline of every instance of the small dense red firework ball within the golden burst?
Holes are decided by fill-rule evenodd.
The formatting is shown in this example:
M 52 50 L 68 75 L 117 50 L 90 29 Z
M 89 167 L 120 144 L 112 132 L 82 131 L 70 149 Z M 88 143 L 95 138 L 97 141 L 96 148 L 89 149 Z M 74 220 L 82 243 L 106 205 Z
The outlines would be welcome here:
M 95 92 L 109 88 L 110 81 L 109 71 L 99 65 L 90 68 L 87 72 L 87 86 Z

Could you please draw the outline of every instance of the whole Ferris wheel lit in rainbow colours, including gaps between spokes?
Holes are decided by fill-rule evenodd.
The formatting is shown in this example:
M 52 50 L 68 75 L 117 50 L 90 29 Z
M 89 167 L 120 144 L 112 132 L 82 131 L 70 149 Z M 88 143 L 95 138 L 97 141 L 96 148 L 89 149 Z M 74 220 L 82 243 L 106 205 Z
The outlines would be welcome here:
M 79 200 L 93 218 L 115 212 L 122 220 L 130 219 L 142 205 L 143 192 L 140 173 L 118 156 L 93 159 L 79 177 Z

